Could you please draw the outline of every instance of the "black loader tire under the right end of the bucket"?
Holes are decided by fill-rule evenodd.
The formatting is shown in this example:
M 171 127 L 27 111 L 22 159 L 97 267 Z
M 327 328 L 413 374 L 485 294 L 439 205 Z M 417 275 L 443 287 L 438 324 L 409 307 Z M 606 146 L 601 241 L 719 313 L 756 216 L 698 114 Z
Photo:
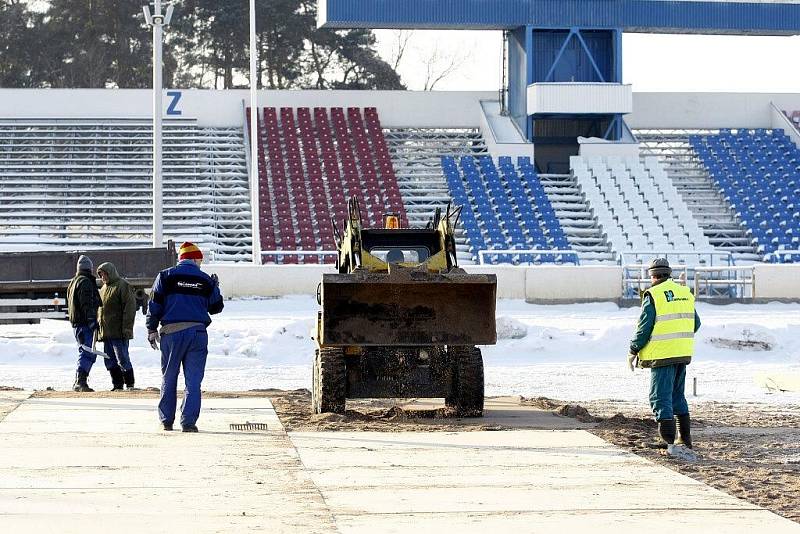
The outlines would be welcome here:
M 483 416 L 483 357 L 474 346 L 448 347 L 452 362 L 450 394 L 445 403 L 460 417 Z

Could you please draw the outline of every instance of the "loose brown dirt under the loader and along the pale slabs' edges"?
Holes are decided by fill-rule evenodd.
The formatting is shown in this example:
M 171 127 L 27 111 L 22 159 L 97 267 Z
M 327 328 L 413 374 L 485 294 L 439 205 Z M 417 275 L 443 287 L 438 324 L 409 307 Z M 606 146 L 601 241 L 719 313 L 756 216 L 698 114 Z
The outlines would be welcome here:
M 458 418 L 444 408 L 418 409 L 398 399 L 348 401 L 343 415 L 312 414 L 311 394 L 255 390 L 204 392 L 208 398 L 268 397 L 289 432 L 513 430 L 487 418 Z M 157 389 L 74 393 L 37 391 L 34 397 L 156 398 Z M 646 447 L 656 439 L 652 415 L 642 404 L 621 401 L 570 403 L 520 398 L 531 406 L 592 423 L 597 436 L 725 493 L 800 522 L 800 406 L 702 402 L 692 404 L 692 437 L 699 461 L 669 459 Z

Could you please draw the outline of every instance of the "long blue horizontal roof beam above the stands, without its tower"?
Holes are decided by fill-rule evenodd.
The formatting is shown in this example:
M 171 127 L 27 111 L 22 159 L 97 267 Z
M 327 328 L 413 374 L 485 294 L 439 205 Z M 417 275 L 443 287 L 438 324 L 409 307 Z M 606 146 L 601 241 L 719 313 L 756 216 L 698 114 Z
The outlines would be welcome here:
M 639 33 L 800 34 L 800 0 L 318 0 L 326 28 L 620 28 Z

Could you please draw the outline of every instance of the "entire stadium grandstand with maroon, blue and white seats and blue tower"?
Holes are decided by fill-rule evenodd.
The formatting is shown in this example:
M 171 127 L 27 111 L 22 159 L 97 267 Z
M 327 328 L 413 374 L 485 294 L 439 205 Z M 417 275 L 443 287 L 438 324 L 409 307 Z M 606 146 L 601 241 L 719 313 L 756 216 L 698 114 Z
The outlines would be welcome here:
M 465 206 L 465 264 L 620 264 L 653 253 L 686 265 L 800 260 L 800 95 L 634 93 L 621 79 L 624 31 L 798 32 L 769 27 L 761 4 L 718 2 L 752 16 L 697 22 L 672 4 L 639 2 L 645 18 L 583 30 L 567 25 L 573 1 L 548 11 L 544 30 L 513 10 L 499 21 L 486 19 L 491 10 L 447 14 L 424 2 L 405 15 L 384 2 L 322 3 L 320 24 L 331 28 L 505 30 L 507 90 L 500 100 L 261 91 L 257 124 L 246 91 L 171 90 L 165 239 L 196 241 L 216 262 L 253 261 L 254 236 L 265 263 L 331 262 L 333 225 L 354 196 L 368 226 L 390 212 L 424 226 L 437 207 Z M 148 98 L 0 90 L 2 249 L 149 242 Z

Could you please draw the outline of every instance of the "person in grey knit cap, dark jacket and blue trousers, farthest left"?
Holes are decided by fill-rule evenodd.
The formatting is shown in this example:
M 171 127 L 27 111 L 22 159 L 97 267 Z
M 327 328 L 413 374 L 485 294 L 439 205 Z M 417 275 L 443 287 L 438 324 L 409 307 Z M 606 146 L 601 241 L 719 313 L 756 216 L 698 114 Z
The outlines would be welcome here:
M 92 274 L 92 260 L 81 255 L 78 269 L 67 287 L 67 313 L 75 341 L 78 342 L 78 369 L 75 371 L 74 391 L 94 391 L 89 387 L 89 372 L 97 360 L 93 350 L 97 331 L 97 308 L 100 306 L 100 293 L 97 279 Z

